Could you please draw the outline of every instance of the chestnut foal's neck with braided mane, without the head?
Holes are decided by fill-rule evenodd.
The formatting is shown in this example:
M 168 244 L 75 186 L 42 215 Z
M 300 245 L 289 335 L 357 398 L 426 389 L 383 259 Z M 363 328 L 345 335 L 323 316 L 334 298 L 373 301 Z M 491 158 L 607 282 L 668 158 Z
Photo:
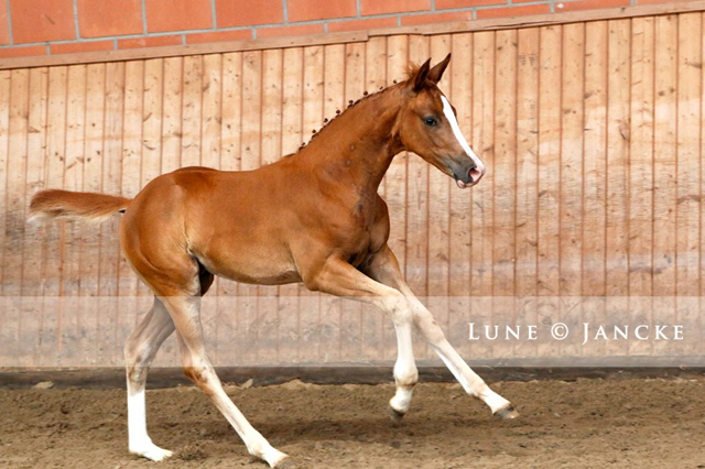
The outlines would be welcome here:
M 399 86 L 360 99 L 325 126 L 296 157 L 315 165 L 324 177 L 373 196 L 392 159 L 403 150 L 393 134 L 401 105 Z

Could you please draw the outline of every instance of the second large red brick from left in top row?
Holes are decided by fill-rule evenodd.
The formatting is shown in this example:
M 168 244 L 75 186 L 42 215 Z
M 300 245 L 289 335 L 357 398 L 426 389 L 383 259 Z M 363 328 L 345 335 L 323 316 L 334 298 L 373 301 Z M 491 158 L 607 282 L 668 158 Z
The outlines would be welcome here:
M 78 33 L 82 37 L 142 33 L 140 0 L 78 0 Z

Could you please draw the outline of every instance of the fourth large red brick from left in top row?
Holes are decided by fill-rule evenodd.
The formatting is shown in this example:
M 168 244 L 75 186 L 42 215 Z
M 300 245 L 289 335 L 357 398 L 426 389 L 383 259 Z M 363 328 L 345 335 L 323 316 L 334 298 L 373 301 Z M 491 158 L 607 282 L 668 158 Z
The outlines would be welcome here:
M 258 0 L 242 6 L 240 0 L 216 0 L 218 28 L 274 24 L 284 21 L 282 0 Z

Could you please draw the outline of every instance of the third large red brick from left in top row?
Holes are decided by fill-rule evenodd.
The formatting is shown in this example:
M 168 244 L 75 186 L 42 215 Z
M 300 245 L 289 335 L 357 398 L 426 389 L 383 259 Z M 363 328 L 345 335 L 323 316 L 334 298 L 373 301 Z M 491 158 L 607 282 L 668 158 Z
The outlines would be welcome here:
M 213 28 L 210 0 L 144 0 L 151 33 Z

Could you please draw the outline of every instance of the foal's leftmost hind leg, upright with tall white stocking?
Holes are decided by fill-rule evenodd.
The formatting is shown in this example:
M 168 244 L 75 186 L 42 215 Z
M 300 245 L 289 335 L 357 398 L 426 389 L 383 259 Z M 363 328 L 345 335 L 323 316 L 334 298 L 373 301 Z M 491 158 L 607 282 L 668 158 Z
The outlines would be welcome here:
M 152 443 L 147 434 L 144 384 L 152 360 L 162 342 L 174 331 L 174 323 L 164 305 L 156 298 L 124 345 L 128 379 L 128 436 L 130 452 L 153 461 L 172 455 Z

